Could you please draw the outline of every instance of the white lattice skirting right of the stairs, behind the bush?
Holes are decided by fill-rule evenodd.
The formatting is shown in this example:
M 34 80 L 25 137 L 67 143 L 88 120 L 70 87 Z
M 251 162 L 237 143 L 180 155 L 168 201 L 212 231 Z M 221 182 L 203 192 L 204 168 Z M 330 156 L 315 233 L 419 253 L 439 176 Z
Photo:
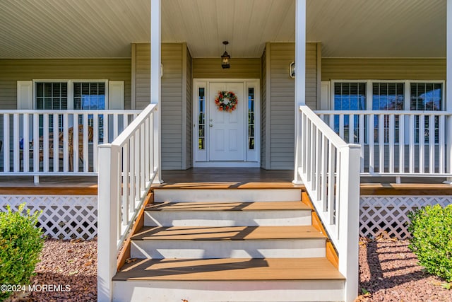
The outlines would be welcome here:
M 361 196 L 359 202 L 359 235 L 385 236 L 406 239 L 408 213 L 428 205 L 452 204 L 452 196 Z

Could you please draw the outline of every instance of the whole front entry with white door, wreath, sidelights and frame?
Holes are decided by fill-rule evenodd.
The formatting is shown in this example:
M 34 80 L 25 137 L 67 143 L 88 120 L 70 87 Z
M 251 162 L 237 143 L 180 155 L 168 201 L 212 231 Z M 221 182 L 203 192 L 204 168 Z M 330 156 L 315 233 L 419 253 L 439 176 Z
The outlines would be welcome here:
M 258 167 L 258 80 L 195 80 L 194 87 L 194 167 Z M 220 92 L 223 105 L 215 103 Z

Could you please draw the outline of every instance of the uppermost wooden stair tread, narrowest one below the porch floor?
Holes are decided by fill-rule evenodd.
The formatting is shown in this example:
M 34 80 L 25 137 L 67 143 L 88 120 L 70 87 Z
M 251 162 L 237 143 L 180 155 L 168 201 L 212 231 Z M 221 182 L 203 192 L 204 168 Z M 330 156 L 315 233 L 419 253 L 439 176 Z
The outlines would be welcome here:
M 302 202 L 158 202 L 146 211 L 270 211 L 311 209 Z

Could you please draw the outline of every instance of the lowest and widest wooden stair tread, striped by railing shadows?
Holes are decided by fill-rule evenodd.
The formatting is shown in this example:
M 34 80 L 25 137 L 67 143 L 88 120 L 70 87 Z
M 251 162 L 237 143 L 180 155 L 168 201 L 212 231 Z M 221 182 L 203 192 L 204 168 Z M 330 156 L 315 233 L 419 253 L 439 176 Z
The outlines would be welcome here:
M 115 281 L 343 280 L 326 258 L 138 259 L 124 265 Z

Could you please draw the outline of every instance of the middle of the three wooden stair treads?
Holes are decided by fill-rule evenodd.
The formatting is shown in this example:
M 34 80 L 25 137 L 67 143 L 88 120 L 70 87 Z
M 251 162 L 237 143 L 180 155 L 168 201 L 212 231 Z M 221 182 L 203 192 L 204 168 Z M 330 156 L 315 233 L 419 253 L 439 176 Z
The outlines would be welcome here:
M 132 240 L 259 240 L 326 238 L 314 226 L 150 226 Z

